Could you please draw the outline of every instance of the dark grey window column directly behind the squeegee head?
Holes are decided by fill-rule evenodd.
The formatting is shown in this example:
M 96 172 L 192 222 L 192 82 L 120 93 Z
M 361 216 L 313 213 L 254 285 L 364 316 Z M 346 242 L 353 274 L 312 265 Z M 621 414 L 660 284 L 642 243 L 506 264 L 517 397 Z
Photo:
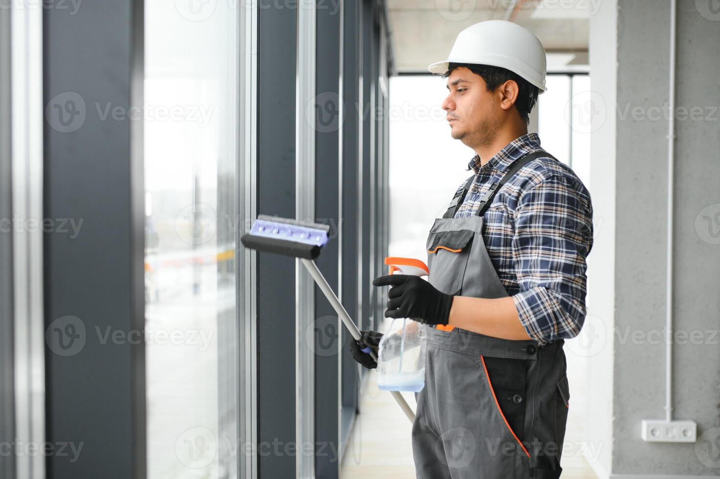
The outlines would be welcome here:
M 258 214 L 295 217 L 297 9 L 258 8 Z M 295 442 L 295 261 L 257 254 L 258 444 Z M 282 451 L 282 449 L 281 449 Z M 260 455 L 261 478 L 294 478 L 294 455 Z

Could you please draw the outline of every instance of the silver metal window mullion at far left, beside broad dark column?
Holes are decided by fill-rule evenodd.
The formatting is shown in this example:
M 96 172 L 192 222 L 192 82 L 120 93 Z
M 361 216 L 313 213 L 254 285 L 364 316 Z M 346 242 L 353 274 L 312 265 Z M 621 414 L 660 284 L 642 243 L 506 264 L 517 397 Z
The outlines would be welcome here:
M 42 9 L 11 9 L 12 216 L 42 218 Z M 45 441 L 42 231 L 12 228 L 14 440 Z M 44 478 L 45 457 L 16 457 L 16 477 Z

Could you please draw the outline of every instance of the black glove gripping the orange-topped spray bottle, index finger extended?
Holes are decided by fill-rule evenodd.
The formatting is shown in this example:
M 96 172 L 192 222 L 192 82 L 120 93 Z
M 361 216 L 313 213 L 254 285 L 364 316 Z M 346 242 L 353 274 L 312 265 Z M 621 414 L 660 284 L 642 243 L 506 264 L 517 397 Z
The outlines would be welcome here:
M 408 274 L 375 278 L 373 286 L 392 286 L 387 292 L 385 318 L 410 318 L 425 324 L 448 323 L 453 295 L 438 291 L 425 279 Z

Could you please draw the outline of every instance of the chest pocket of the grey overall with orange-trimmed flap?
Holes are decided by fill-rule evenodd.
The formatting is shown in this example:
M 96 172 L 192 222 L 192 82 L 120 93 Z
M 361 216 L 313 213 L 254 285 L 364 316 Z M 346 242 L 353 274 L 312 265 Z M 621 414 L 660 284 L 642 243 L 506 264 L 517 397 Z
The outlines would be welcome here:
M 428 236 L 428 281 L 441 292 L 456 295 L 462 290 L 472 230 L 431 232 Z

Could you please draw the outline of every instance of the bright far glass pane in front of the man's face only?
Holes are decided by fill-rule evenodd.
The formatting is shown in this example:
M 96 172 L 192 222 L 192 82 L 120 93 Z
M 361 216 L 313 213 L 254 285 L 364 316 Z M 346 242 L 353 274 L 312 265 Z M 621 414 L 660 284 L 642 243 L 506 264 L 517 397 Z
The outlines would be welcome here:
M 467 164 L 475 152 L 451 137 L 441 107 L 447 81 L 438 75 L 390 78 L 388 256 L 427 261 L 425 241 L 433 220 L 472 174 Z

